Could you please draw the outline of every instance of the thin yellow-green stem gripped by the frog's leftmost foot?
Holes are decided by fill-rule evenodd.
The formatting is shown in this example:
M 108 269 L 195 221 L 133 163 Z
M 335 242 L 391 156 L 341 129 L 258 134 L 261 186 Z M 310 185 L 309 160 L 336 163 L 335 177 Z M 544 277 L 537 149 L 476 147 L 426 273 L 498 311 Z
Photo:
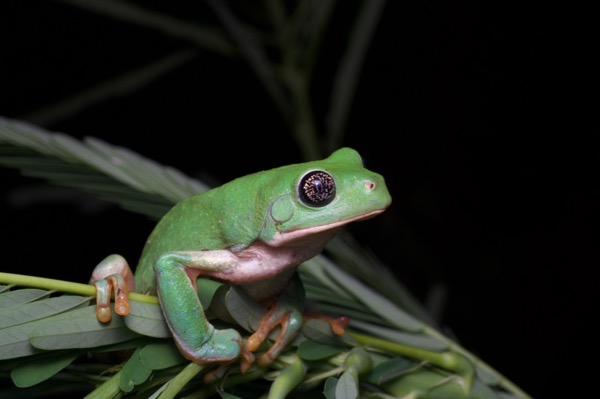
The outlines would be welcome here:
M 22 287 L 41 288 L 45 290 L 76 294 L 81 296 L 96 296 L 96 287 L 89 284 L 73 283 L 51 278 L 26 276 L 23 274 L 0 272 L 0 284 L 18 285 Z M 135 302 L 157 304 L 158 298 L 136 292 L 129 293 L 129 299 Z

